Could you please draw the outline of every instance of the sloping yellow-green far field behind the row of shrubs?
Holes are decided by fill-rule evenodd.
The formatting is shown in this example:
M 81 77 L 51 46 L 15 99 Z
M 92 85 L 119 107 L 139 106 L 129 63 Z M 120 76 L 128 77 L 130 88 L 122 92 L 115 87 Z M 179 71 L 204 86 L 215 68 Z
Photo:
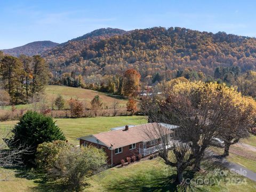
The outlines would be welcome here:
M 102 93 L 98 91 L 87 90 L 87 89 L 76 88 L 76 87 L 68 87 L 68 86 L 59 86 L 59 85 L 46 86 L 45 96 L 48 104 L 50 104 L 52 98 L 56 98 L 58 94 L 61 94 L 65 100 L 69 100 L 70 98 L 75 98 L 80 101 L 84 101 L 88 105 L 88 107 L 90 107 L 90 101 L 95 97 L 95 95 L 100 96 L 103 102 L 103 106 L 111 107 L 115 99 L 118 100 L 119 105 L 121 107 L 125 107 L 127 102 L 126 99 L 120 99 L 118 95 L 115 96 L 109 93 Z M 33 108 L 33 104 L 17 105 L 15 107 L 17 109 L 31 109 Z M 11 106 L 7 106 L 4 109 L 10 110 Z

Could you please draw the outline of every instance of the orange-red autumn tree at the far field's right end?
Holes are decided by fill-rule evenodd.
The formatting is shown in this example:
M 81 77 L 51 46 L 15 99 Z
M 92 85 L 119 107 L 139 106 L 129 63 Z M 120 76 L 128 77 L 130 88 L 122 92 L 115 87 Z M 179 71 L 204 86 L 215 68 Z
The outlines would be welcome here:
M 140 74 L 135 69 L 127 69 L 124 73 L 124 95 L 126 97 L 135 97 L 139 91 Z

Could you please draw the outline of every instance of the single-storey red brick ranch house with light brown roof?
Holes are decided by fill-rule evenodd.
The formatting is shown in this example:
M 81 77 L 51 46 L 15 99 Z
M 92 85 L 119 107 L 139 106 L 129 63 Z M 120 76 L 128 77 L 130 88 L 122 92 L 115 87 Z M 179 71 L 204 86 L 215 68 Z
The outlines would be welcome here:
M 142 157 L 145 157 L 156 153 L 156 145 L 161 145 L 159 138 L 157 138 L 158 134 L 154 135 L 154 140 L 147 134 L 147 131 L 152 131 L 153 133 L 156 130 L 156 126 L 162 126 L 163 129 L 166 129 L 169 139 L 170 134 L 173 133 L 172 129 L 178 127 L 163 123 L 147 123 L 132 127 L 126 125 L 125 127 L 111 129 L 113 131 L 87 135 L 78 139 L 80 146 L 92 145 L 104 150 L 108 157 L 108 164 L 117 165 L 121 162 L 121 159 L 132 155 L 141 154 Z

